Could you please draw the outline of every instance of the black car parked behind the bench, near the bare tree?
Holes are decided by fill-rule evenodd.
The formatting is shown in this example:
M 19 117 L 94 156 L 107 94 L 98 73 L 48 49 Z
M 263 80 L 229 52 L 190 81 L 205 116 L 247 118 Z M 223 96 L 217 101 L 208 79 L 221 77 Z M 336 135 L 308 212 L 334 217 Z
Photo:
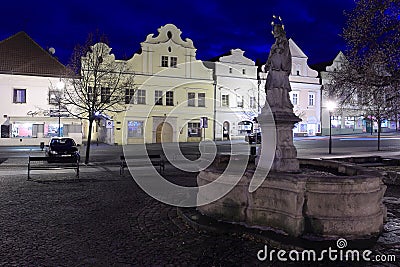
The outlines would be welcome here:
M 79 145 L 69 137 L 53 137 L 46 146 L 46 156 L 52 162 L 74 162 L 80 160 Z

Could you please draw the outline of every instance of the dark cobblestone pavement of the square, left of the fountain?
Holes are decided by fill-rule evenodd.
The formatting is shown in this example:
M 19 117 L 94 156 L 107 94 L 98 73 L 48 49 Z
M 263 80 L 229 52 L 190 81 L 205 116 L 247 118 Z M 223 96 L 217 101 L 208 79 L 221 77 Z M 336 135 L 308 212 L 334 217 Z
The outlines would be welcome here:
M 83 170 L 79 180 L 73 171 L 33 174 L 31 181 L 20 174 L 0 176 L 1 266 L 261 264 L 257 252 L 264 248 L 262 241 L 243 234 L 197 231 L 178 217 L 175 207 L 149 197 L 129 175 L 120 176 L 115 167 L 96 168 Z M 168 179 L 195 184 L 196 174 L 168 168 Z M 397 210 L 400 192 L 390 192 L 390 209 Z

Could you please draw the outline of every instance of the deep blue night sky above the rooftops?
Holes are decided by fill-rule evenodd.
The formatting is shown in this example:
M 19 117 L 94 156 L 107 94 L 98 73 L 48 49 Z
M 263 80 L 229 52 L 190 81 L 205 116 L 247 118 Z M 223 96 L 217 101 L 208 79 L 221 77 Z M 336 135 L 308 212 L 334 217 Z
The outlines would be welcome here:
M 117 58 L 131 57 L 149 33 L 175 24 L 183 38 L 193 40 L 197 58 L 206 60 L 232 48 L 265 61 L 274 41 L 272 15 L 283 18 L 287 36 L 309 57 L 309 63 L 332 60 L 344 49 L 343 10 L 354 0 L 235 1 L 7 1 L 2 3 L 0 39 L 25 31 L 44 48 L 68 63 L 73 47 L 89 32 L 108 36 Z

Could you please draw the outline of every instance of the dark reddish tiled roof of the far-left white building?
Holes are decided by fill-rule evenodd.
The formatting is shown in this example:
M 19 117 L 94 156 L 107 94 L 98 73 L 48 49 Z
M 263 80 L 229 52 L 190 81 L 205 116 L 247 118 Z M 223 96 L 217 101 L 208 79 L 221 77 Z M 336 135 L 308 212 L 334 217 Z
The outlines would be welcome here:
M 0 42 L 0 73 L 59 77 L 66 67 L 25 32 L 19 32 Z

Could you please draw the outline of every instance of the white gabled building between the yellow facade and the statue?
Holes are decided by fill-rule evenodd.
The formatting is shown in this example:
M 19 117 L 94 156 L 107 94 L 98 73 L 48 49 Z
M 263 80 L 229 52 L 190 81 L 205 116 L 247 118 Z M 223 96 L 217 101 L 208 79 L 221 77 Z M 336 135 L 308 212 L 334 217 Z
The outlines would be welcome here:
M 214 71 L 215 140 L 243 139 L 258 129 L 254 118 L 265 93 L 260 94 L 257 66 L 243 54 L 232 49 L 205 63 Z

